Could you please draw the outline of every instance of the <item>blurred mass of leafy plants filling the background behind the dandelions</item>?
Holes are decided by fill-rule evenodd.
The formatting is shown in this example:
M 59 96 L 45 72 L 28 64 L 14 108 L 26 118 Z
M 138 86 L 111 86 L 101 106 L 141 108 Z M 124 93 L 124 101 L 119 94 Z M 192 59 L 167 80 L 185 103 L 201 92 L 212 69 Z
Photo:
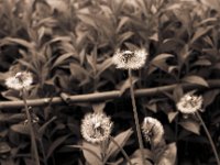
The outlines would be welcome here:
M 175 102 L 186 91 L 183 82 L 195 85 L 205 98 L 202 118 L 219 150 L 220 90 L 209 84 L 220 78 L 219 11 L 219 0 L 0 0 L 0 99 L 21 99 L 4 85 L 10 73 L 20 70 L 34 75 L 29 99 L 111 90 L 124 94 L 128 75 L 116 69 L 111 57 L 118 48 L 144 47 L 148 59 L 134 73 L 135 88 L 177 86 L 138 98 L 141 121 L 151 116 L 163 123 L 166 142 L 176 142 L 177 164 L 215 164 L 200 123 L 178 113 Z M 67 145 L 81 143 L 80 121 L 97 109 L 111 116 L 112 135 L 134 129 L 127 97 L 33 107 L 40 118 L 41 157 L 52 165 L 85 164 L 82 152 Z M 22 108 L 0 110 L 0 143 L 9 151 L 6 154 L 0 147 L 2 165 L 31 162 Z M 131 134 L 124 150 L 132 155 L 136 148 Z

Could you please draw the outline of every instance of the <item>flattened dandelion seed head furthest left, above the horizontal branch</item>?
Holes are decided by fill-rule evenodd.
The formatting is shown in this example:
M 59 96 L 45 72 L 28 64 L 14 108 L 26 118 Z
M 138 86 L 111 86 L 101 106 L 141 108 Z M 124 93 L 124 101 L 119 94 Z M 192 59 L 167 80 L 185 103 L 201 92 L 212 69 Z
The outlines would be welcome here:
M 16 73 L 14 76 L 6 79 L 7 87 L 15 90 L 21 90 L 22 88 L 28 89 L 32 82 L 32 74 L 28 72 Z

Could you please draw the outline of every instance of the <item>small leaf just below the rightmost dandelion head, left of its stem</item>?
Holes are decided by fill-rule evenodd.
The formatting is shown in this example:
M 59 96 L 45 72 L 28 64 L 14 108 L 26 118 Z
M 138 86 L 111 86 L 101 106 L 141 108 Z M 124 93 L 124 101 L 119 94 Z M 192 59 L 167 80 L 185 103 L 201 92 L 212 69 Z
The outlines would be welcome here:
M 182 121 L 179 122 L 179 124 L 190 131 L 190 132 L 194 132 L 196 134 L 200 134 L 199 131 L 200 131 L 200 124 L 196 121 L 191 121 L 191 120 L 185 120 L 185 121 Z

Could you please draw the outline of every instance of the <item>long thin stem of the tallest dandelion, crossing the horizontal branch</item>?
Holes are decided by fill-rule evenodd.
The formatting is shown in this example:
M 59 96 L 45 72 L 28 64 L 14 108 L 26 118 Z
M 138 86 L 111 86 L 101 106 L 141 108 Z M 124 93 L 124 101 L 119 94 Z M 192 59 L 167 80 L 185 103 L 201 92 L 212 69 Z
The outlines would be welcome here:
M 136 111 L 136 102 L 134 99 L 134 88 L 132 84 L 132 70 L 129 69 L 129 80 L 130 80 L 130 92 L 131 92 L 131 100 L 132 100 L 132 106 L 133 106 L 133 113 L 134 113 L 134 121 L 136 125 L 136 133 L 138 133 L 138 140 L 139 140 L 139 147 L 141 151 L 141 156 L 142 156 L 142 163 L 143 165 L 145 164 L 145 158 L 144 158 L 144 144 L 141 135 L 141 127 L 139 124 L 139 117 L 138 117 L 138 111 Z

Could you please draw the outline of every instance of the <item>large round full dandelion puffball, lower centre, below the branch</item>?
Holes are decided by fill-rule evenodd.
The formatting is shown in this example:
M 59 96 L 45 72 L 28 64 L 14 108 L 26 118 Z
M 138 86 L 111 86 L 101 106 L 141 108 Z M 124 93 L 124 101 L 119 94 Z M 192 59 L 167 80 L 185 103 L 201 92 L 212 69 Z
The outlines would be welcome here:
M 81 135 L 91 143 L 107 140 L 113 123 L 105 113 L 87 113 L 81 121 Z

